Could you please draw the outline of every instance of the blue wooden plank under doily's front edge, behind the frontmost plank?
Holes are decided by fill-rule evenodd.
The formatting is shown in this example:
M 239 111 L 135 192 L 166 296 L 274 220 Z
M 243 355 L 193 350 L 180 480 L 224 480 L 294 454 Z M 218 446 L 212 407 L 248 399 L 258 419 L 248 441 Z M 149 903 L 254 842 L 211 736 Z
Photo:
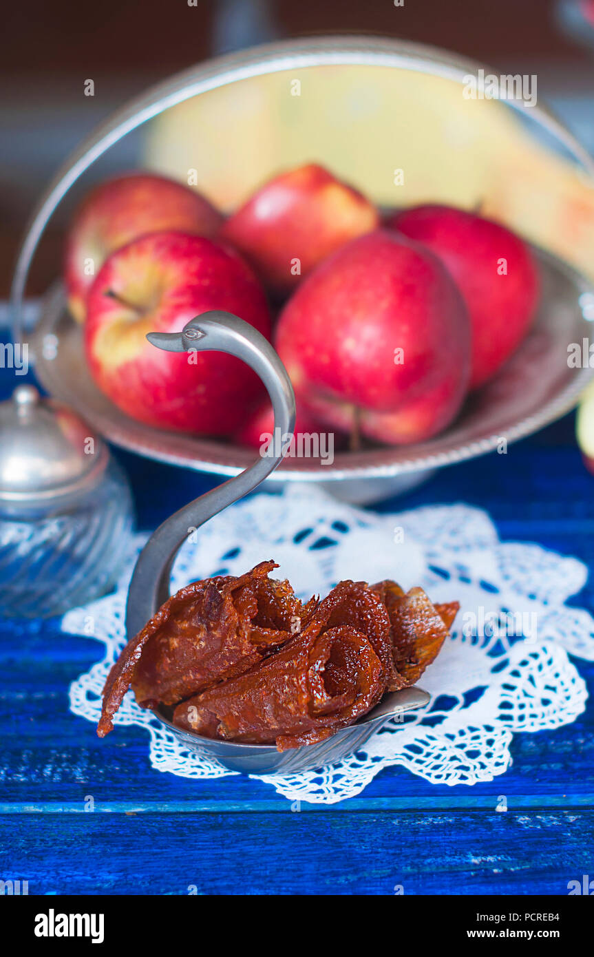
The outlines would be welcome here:
M 148 736 L 138 727 L 117 727 L 102 741 L 91 723 L 68 710 L 70 681 L 99 657 L 98 642 L 49 629 L 27 640 L 15 623 L 11 644 L 0 641 L 0 801 L 19 804 L 132 801 L 157 808 L 166 802 L 207 802 L 245 810 L 287 806 L 269 786 L 241 775 L 188 781 L 160 774 L 148 761 Z M 54 626 L 56 629 L 56 625 Z M 581 664 L 594 687 L 594 665 Z M 414 810 L 419 798 L 435 807 L 492 807 L 504 793 L 515 807 L 594 804 L 594 711 L 553 732 L 517 735 L 514 764 L 493 782 L 450 789 L 433 786 L 403 768 L 388 768 L 363 791 L 364 801 Z M 200 810 L 203 804 L 199 803 Z M 346 808 L 347 805 L 344 805 Z M 352 808 L 360 807 L 353 804 Z

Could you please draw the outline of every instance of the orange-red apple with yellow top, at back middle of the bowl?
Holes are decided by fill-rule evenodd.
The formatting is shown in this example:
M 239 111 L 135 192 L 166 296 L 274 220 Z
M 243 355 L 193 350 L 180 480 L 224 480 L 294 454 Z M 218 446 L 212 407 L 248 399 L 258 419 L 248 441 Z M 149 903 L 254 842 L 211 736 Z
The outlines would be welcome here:
M 378 225 L 378 212 L 356 189 L 309 164 L 270 180 L 230 216 L 223 235 L 282 294 L 322 259 Z

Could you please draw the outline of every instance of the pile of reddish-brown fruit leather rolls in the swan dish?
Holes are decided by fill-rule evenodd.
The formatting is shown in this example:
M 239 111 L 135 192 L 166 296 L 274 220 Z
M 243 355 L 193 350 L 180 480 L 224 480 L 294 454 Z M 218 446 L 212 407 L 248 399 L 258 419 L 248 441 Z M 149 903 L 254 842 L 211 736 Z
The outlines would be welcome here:
M 99 736 L 131 685 L 143 707 L 175 707 L 174 723 L 206 737 L 279 750 L 323 741 L 385 691 L 414 684 L 458 611 L 389 580 L 343 581 L 303 606 L 288 582 L 268 578 L 273 568 L 169 598 L 112 668 Z

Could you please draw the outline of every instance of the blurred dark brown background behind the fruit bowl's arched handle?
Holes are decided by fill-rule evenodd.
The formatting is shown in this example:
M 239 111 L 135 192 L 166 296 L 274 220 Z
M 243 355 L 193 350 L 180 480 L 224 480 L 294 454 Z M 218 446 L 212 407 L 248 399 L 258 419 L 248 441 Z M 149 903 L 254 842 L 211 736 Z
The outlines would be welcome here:
M 192 2 L 192 0 L 190 0 Z M 536 73 L 594 153 L 594 26 L 581 0 L 30 0 L 4 12 L 0 115 L 0 296 L 35 200 L 78 142 L 126 100 L 208 56 L 279 37 L 375 33 L 434 44 L 502 73 Z M 583 0 L 585 4 L 587 0 Z M 592 5 L 594 6 L 594 5 Z M 594 23 L 594 20 L 593 20 Z M 590 33 L 591 31 L 591 33 Z M 85 96 L 93 79 L 94 96 Z M 101 175 L 138 162 L 126 139 Z M 99 172 L 98 172 L 99 175 Z M 28 291 L 59 271 L 68 203 L 55 214 Z

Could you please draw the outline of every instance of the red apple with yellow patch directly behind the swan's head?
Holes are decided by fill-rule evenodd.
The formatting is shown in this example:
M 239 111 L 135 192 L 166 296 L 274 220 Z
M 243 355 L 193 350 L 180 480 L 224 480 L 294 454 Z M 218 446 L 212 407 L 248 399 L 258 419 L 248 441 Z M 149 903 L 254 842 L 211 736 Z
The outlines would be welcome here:
M 153 233 L 109 256 L 87 297 L 85 347 L 99 388 L 148 425 L 231 434 L 264 391 L 222 352 L 165 352 L 147 332 L 179 332 L 224 309 L 270 338 L 264 291 L 241 256 L 210 239 Z

